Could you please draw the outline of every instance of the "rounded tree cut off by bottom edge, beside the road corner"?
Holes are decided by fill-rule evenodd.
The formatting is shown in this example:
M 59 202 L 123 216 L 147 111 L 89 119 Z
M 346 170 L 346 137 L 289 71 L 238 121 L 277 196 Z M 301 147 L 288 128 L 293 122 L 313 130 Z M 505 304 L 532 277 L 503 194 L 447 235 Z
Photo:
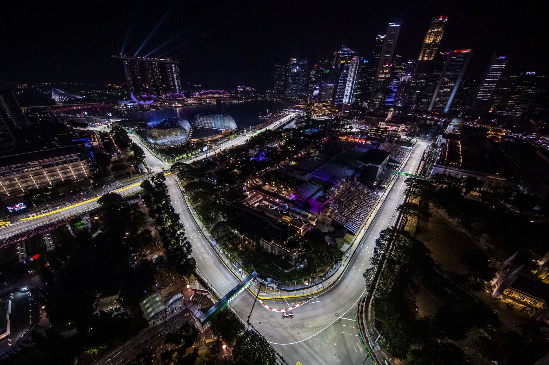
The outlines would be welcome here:
M 276 352 L 264 337 L 253 329 L 239 335 L 233 347 L 235 365 L 275 365 Z

